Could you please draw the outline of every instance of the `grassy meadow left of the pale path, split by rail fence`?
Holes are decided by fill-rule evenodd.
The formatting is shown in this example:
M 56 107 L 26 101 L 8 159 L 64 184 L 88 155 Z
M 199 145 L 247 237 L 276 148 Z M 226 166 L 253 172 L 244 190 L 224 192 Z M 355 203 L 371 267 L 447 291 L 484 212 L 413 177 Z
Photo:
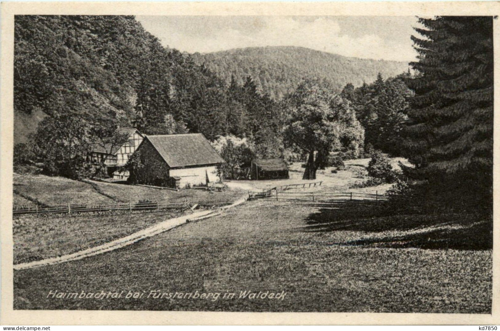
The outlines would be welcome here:
M 62 177 L 14 174 L 13 205 L 33 206 L 33 201 L 38 201 L 40 205 L 57 206 L 67 203 L 117 204 L 139 200 L 182 202 L 188 199 L 193 204 L 198 204 L 199 208 L 213 208 L 230 204 L 244 194 L 239 189 L 214 193 L 203 190 L 170 191 L 97 181 L 89 184 Z M 181 213 L 179 210 L 170 210 L 16 216 L 12 222 L 14 263 L 74 253 L 127 236 Z

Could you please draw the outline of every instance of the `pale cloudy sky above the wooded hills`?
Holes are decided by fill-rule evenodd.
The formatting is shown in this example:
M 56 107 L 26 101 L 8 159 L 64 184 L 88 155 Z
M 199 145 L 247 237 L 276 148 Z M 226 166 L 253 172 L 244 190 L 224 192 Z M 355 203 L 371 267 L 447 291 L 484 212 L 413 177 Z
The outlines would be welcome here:
M 137 16 L 164 46 L 189 53 L 302 46 L 344 56 L 412 61 L 414 16 Z

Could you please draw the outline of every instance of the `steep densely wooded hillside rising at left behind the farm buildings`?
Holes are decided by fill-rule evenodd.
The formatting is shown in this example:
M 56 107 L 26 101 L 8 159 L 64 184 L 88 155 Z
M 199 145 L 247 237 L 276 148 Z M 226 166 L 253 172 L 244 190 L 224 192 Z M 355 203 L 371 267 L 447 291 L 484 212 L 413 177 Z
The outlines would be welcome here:
M 134 16 L 15 17 L 14 159 L 44 162 L 47 174 L 77 176 L 89 144 L 117 126 L 260 144 L 276 140 L 279 117 L 251 77 L 227 84 Z

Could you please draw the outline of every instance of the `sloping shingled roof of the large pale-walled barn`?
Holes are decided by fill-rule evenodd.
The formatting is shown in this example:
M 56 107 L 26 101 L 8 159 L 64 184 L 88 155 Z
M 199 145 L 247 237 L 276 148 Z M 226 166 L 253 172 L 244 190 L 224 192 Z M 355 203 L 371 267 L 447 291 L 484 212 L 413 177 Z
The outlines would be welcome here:
M 201 133 L 147 135 L 170 168 L 224 163 Z

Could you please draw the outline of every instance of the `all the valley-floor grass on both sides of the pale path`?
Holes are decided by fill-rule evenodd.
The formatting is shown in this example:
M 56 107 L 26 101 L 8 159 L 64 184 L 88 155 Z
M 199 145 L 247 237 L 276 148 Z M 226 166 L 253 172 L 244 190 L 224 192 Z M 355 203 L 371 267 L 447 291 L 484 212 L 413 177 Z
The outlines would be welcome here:
M 383 193 L 390 187 L 349 189 L 351 183 L 365 180 L 359 176 L 365 164 L 356 162 L 346 164 L 342 171 L 318 171 L 316 181 L 323 184 L 305 191 Z M 231 181 L 230 189 L 215 193 L 14 175 L 14 204 L 187 198 L 212 208 L 244 196 L 247 190 L 300 182 L 303 169 L 294 164 L 290 170 L 290 179 Z M 388 216 L 384 205 L 379 207 L 355 202 L 326 208 L 247 201 L 219 216 L 190 222 L 115 251 L 14 271 L 14 309 L 490 313 L 490 217 L 466 213 Z M 93 247 L 178 213 L 16 217 L 14 263 Z M 123 291 L 123 296 L 131 291 L 144 293 L 145 298 L 48 298 L 54 290 Z M 220 293 L 221 297 L 147 298 L 150 291 L 197 291 Z M 238 298 L 241 291 L 284 291 L 286 295 L 282 300 L 242 299 Z M 234 293 L 235 298 L 223 299 L 226 293 Z

